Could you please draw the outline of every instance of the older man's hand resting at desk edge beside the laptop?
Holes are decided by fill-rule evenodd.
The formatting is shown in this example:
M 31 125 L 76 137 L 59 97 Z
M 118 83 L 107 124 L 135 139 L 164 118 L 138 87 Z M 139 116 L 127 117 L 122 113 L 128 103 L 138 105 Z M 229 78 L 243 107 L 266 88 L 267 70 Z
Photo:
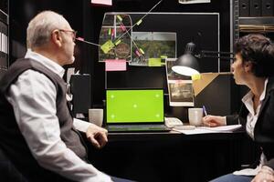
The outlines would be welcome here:
M 87 138 L 90 140 L 94 147 L 101 148 L 108 142 L 108 130 L 96 126 L 90 125 L 86 132 Z

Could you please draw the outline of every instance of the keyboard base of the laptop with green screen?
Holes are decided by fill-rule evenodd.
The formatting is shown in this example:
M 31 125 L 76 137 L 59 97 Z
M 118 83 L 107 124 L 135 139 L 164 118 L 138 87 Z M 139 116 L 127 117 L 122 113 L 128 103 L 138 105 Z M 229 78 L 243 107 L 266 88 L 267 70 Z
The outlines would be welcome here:
M 120 125 L 108 126 L 109 132 L 129 131 L 169 131 L 164 125 Z

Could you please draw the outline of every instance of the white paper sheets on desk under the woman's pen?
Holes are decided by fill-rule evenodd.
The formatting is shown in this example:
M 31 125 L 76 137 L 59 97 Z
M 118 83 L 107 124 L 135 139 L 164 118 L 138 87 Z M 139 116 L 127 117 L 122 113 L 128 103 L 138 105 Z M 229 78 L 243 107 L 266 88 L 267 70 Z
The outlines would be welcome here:
M 197 126 L 195 129 L 185 130 L 185 129 L 176 129 L 174 131 L 180 132 L 185 135 L 195 135 L 195 134 L 208 134 L 208 133 L 227 133 L 240 128 L 241 125 L 231 125 L 231 126 L 216 126 L 216 127 L 206 127 L 206 126 Z

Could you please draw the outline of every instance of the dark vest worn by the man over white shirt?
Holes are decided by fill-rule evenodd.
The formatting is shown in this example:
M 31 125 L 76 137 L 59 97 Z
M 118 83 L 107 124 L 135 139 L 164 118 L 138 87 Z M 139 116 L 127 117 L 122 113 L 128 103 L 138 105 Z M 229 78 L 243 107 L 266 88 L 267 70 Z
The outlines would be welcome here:
M 68 181 L 38 165 L 17 126 L 14 109 L 5 98 L 9 86 L 15 83 L 18 76 L 28 69 L 44 74 L 56 87 L 56 109 L 61 131 L 60 137 L 77 156 L 83 160 L 87 159 L 87 151 L 81 136 L 73 127 L 73 117 L 69 112 L 66 99 L 65 82 L 60 76 L 47 69 L 46 66 L 31 59 L 17 60 L 0 81 L 0 147 L 29 181 Z

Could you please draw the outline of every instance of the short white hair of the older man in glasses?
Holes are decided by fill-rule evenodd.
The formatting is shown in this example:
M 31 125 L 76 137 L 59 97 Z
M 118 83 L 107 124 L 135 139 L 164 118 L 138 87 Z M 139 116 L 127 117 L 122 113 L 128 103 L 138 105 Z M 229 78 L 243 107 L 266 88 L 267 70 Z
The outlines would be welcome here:
M 53 11 L 43 11 L 36 15 L 26 29 L 27 48 L 46 45 L 54 29 L 62 28 L 68 21 Z

